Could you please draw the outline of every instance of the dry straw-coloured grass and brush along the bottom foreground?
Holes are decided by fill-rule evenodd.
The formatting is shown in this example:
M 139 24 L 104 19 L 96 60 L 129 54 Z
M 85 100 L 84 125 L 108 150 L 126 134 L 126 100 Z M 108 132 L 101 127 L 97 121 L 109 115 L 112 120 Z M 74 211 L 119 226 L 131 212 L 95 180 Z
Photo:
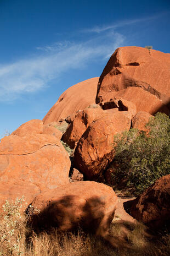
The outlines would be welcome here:
M 0 220 L 0 255 L 24 256 L 166 256 L 170 255 L 170 235 L 153 238 L 145 226 L 131 222 L 112 222 L 104 238 L 77 233 L 58 233 L 56 229 L 39 234 L 28 230 L 27 217 L 20 213 L 23 199 L 3 206 Z M 29 236 L 28 236 L 29 234 Z M 108 242 L 109 241 L 109 242 Z M 111 245 L 112 244 L 112 245 Z

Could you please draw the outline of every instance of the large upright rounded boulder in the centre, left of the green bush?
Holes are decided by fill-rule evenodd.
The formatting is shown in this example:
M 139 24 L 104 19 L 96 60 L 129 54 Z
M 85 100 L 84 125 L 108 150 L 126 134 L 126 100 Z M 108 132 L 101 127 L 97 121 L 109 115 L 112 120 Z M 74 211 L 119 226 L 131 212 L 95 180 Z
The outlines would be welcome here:
M 97 180 L 114 159 L 114 135 L 131 128 L 131 113 L 109 110 L 94 121 L 75 149 L 75 166 L 89 180 Z

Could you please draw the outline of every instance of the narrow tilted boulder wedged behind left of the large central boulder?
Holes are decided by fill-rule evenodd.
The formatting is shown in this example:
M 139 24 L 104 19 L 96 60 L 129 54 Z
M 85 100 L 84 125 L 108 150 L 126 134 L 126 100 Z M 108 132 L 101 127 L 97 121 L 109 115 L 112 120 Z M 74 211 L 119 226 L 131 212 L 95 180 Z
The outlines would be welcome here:
M 89 124 L 104 115 L 105 112 L 99 105 L 98 108 L 86 108 L 85 110 L 79 111 L 75 116 L 75 119 L 70 123 L 69 127 L 67 127 L 62 140 L 67 143 L 71 149 L 74 149 Z

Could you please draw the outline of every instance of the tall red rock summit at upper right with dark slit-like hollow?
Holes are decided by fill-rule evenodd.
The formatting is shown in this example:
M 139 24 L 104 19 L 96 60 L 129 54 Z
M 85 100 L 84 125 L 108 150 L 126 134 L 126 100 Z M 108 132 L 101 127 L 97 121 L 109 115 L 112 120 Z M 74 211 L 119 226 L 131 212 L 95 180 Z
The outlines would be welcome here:
M 170 110 L 170 54 L 142 47 L 121 47 L 99 78 L 96 102 L 114 97 L 132 101 L 137 112 L 153 115 Z

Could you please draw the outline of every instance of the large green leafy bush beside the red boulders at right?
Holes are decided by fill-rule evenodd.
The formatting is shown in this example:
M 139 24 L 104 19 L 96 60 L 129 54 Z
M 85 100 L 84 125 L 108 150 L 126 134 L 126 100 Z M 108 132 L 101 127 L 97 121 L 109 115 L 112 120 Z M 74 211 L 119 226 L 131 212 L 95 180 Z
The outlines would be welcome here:
M 147 132 L 131 129 L 115 136 L 117 168 L 112 173 L 115 184 L 124 180 L 127 188 L 139 194 L 157 178 L 170 173 L 170 120 L 157 113 L 146 124 Z

